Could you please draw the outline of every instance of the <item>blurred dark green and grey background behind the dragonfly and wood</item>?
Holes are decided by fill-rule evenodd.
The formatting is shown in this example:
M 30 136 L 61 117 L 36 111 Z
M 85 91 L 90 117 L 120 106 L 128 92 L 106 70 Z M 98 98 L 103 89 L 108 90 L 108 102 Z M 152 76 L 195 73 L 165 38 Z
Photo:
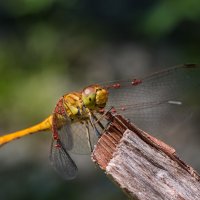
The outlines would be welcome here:
M 198 0 L 1 0 L 0 132 L 39 122 L 87 84 L 199 63 L 199 36 Z M 49 165 L 50 138 L 1 149 L 1 200 L 126 199 L 89 156 L 75 157 L 79 176 L 63 181 Z M 200 171 L 197 138 L 183 154 Z

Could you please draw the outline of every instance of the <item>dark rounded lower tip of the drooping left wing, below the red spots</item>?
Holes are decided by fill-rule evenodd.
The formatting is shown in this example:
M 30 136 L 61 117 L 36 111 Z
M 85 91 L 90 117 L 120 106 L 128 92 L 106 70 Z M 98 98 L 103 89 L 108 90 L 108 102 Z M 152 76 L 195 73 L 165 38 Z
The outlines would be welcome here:
M 50 161 L 52 166 L 64 179 L 74 179 L 78 172 L 77 166 L 68 152 L 62 147 L 62 144 L 60 144 L 60 146 L 57 145 L 57 141 L 52 140 L 50 152 Z

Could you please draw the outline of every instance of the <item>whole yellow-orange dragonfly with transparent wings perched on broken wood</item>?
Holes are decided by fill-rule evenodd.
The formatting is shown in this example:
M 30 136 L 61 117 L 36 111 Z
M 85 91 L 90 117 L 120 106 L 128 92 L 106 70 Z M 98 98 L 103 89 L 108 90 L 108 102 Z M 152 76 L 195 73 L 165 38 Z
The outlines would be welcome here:
M 63 95 L 53 113 L 41 123 L 0 136 L 0 146 L 26 135 L 51 131 L 51 164 L 64 179 L 73 179 L 78 168 L 71 153 L 93 150 L 109 124 L 107 112 L 123 115 L 148 133 L 167 132 L 190 116 L 194 99 L 199 105 L 199 91 L 200 66 L 196 64 L 167 68 L 143 78 L 89 85 Z

